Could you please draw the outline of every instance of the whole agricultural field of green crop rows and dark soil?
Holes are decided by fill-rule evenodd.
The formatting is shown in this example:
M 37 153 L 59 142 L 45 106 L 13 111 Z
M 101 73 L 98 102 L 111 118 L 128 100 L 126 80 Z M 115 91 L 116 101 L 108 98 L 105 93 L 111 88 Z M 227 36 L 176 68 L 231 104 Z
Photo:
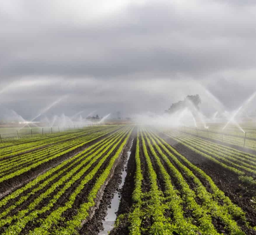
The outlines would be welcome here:
M 0 234 L 256 234 L 247 150 L 147 125 L 2 142 Z

